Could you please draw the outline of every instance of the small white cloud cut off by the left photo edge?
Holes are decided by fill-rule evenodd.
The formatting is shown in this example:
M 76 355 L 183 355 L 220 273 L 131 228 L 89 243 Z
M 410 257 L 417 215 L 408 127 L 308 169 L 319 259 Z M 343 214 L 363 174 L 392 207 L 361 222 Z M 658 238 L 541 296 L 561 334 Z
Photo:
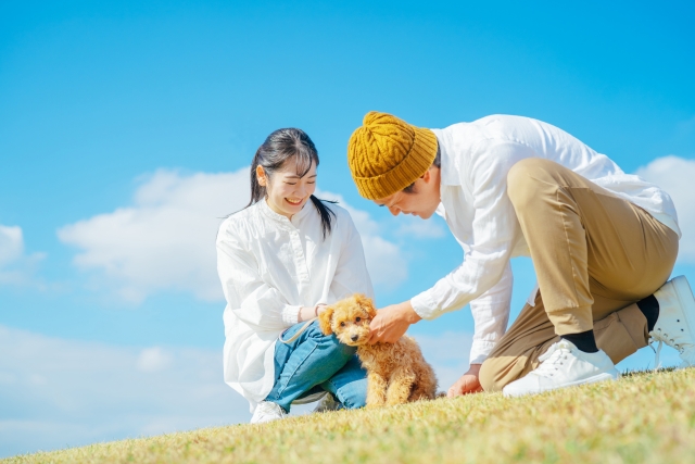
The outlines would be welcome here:
M 29 285 L 43 253 L 25 254 L 22 227 L 0 224 L 0 285 Z

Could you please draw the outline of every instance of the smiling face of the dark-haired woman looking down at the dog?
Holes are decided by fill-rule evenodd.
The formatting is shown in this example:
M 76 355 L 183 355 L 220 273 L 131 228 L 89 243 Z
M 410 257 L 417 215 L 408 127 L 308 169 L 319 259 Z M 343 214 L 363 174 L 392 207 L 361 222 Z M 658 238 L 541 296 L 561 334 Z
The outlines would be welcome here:
M 268 206 L 278 214 L 288 218 L 299 213 L 316 190 L 316 163 L 300 177 L 296 174 L 296 160 L 290 158 L 282 168 L 273 173 L 271 177 L 263 170 L 256 167 L 258 184 L 265 186 Z

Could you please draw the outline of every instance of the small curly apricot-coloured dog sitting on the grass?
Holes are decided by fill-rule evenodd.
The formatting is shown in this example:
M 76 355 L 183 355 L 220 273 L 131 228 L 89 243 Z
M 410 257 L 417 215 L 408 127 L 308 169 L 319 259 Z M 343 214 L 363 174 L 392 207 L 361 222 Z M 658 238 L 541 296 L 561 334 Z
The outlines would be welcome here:
M 417 342 L 403 336 L 395 343 L 369 344 L 369 322 L 377 315 L 371 300 L 354 294 L 328 306 L 318 322 L 325 335 L 357 347 L 367 371 L 367 407 L 431 400 L 437 393 L 434 371 Z

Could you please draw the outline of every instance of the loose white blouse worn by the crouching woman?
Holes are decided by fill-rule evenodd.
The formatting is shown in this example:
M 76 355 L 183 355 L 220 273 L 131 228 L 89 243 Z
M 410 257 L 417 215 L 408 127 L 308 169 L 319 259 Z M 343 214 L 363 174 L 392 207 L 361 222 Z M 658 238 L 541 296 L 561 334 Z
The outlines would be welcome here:
M 249 400 L 252 412 L 273 389 L 275 343 L 298 323 L 301 306 L 355 292 L 374 298 L 359 234 L 345 210 L 329 208 L 336 220 L 326 239 L 311 201 L 291 221 L 258 201 L 219 226 L 225 381 Z

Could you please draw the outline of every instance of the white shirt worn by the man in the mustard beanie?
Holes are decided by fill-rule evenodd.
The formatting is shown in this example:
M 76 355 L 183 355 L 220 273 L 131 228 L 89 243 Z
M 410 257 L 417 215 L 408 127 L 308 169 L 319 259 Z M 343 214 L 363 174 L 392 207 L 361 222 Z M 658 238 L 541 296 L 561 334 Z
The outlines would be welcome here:
M 432 129 L 440 145 L 441 214 L 462 244 L 464 263 L 410 300 L 432 319 L 470 303 L 475 321 L 470 363 L 481 363 L 504 334 L 511 299 L 509 259 L 529 255 L 507 197 L 507 173 L 526 158 L 555 161 L 648 211 L 680 237 L 675 208 L 660 188 L 624 174 L 566 131 L 529 117 L 492 115 Z M 533 294 L 529 298 L 531 304 Z

